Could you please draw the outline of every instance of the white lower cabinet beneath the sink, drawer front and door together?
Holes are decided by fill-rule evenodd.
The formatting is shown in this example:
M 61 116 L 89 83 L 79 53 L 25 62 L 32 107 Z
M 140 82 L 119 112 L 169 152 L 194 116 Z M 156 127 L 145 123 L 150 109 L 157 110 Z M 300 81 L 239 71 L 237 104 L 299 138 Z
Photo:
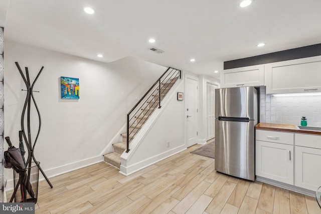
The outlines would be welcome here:
M 316 191 L 321 186 L 321 135 L 295 133 L 295 186 Z

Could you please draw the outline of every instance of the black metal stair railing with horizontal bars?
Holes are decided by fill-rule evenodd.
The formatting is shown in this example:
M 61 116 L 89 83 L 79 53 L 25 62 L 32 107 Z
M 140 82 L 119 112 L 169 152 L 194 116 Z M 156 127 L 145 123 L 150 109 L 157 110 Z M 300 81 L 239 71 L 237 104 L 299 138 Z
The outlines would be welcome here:
M 147 120 L 147 118 L 153 112 L 152 107 L 156 105 L 161 108 L 162 94 L 165 96 L 171 87 L 167 87 L 170 84 L 174 84 L 177 79 L 182 78 L 181 70 L 175 68 L 168 68 L 164 74 L 148 89 L 148 91 L 142 96 L 142 98 L 136 103 L 136 105 L 127 114 L 127 140 L 126 140 L 126 152 L 129 152 L 129 142 L 136 135 L 134 130 L 140 128 Z M 158 91 L 158 92 L 157 92 Z M 163 91 L 163 93 L 162 93 Z M 157 92 L 157 93 L 156 93 Z M 157 99 L 156 99 L 157 97 Z M 143 114 L 146 108 L 152 108 L 148 113 Z M 129 129 L 132 128 L 131 131 Z

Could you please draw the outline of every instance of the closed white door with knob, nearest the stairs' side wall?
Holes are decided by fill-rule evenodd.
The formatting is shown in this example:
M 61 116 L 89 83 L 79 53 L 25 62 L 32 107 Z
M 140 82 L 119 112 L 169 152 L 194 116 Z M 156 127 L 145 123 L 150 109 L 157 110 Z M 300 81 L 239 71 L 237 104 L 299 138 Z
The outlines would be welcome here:
M 187 147 L 197 143 L 198 122 L 198 81 L 186 78 L 186 145 Z

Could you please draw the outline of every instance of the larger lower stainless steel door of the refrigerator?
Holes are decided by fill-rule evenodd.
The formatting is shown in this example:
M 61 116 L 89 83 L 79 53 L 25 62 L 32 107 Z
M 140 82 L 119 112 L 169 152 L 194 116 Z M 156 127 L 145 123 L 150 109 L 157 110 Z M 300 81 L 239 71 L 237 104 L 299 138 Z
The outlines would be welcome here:
M 254 121 L 215 120 L 215 170 L 254 180 Z

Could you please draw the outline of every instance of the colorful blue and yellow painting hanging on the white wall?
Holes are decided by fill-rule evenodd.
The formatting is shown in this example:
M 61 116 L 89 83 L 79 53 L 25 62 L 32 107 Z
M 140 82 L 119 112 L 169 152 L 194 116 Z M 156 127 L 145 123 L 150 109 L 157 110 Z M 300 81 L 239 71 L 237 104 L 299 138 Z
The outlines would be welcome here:
M 79 78 L 61 77 L 61 99 L 79 99 Z

